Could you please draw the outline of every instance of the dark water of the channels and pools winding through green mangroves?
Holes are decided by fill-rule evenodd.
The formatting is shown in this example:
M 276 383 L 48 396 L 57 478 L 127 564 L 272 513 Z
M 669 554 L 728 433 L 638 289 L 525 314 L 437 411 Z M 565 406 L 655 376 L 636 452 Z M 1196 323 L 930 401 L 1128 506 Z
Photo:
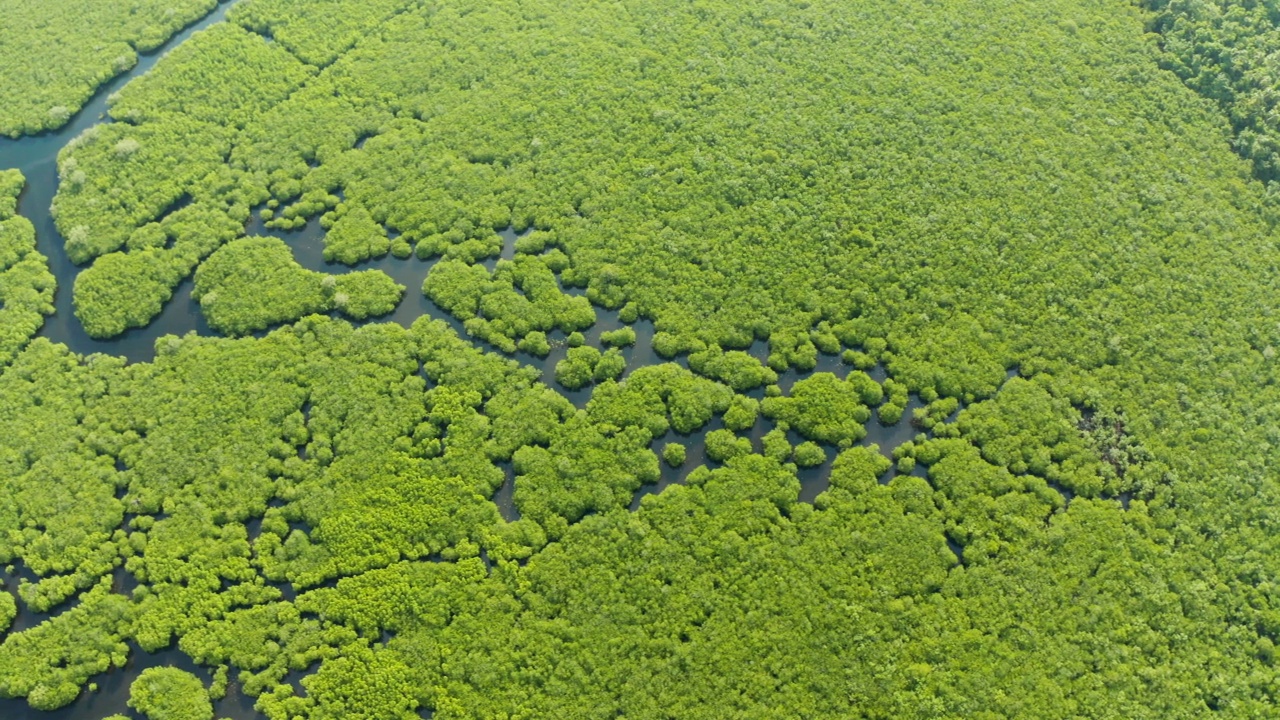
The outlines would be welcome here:
M 221 0 L 212 13 L 175 35 L 161 49 L 155 53 L 140 55 L 138 63 L 132 70 L 102 86 L 93 99 L 63 129 L 22 140 L 0 138 L 0 168 L 18 168 L 27 178 L 27 187 L 18 202 L 18 211 L 35 224 L 37 247 L 40 252 L 49 258 L 50 270 L 58 278 L 58 295 L 55 301 L 56 311 L 52 316 L 45 320 L 45 325 L 40 332 L 41 336 L 54 342 L 65 343 L 78 354 L 87 355 L 102 352 L 122 356 L 129 361 L 137 363 L 150 361 L 155 357 L 155 342 L 160 337 L 168 334 L 182 336 L 188 332 L 196 332 L 205 336 L 215 334 L 205 323 L 204 315 L 200 311 L 200 305 L 191 297 L 193 283 L 188 278 L 178 286 L 173 299 L 165 305 L 160 316 L 154 319 L 146 328 L 131 329 L 116 338 L 106 341 L 88 337 L 84 328 L 76 318 L 72 302 L 72 287 L 79 268 L 70 263 L 63 250 L 63 237 L 54 225 L 50 206 L 52 204 L 54 195 L 58 191 L 58 152 L 68 142 L 90 127 L 110 122 L 110 118 L 106 118 L 108 97 L 134 77 L 138 77 L 151 69 L 165 53 L 186 41 L 192 36 L 192 33 L 223 20 L 228 10 L 238 1 L 239 0 Z M 435 260 L 424 261 L 417 260 L 416 258 L 399 260 L 390 255 L 385 255 L 380 259 L 361 263 L 355 268 L 325 263 L 324 231 L 315 220 L 298 231 L 271 231 L 265 228 L 255 217 L 255 219 L 247 225 L 246 232 L 248 234 L 274 236 L 284 240 L 292 247 L 297 261 L 307 269 L 332 274 L 378 269 L 403 284 L 406 287 L 404 297 L 396 310 L 389 315 L 375 318 L 371 322 L 393 322 L 403 327 L 408 327 L 413 323 L 413 320 L 424 315 L 429 315 L 448 322 L 460 336 L 467 337 L 461 322 L 443 313 L 421 292 L 422 281 L 426 278 L 426 274 L 430 272 Z M 500 258 L 511 259 L 515 254 L 515 241 L 517 234 L 511 229 L 504 231 L 500 234 L 504 241 Z M 492 270 L 497 260 L 497 258 L 489 259 L 484 263 L 484 265 Z M 571 295 L 582 295 L 582 291 L 579 288 L 564 288 L 564 292 Z M 618 319 L 617 311 L 596 309 L 595 325 L 585 331 L 582 334 L 586 337 L 588 345 L 600 347 L 600 334 L 621 327 L 623 327 L 623 323 Z M 653 350 L 653 323 L 649 320 L 639 320 L 632 323 L 631 327 L 636 332 L 636 343 L 632 347 L 622 348 L 622 352 L 627 359 L 626 373 L 630 374 L 636 368 L 663 363 L 664 360 Z M 552 341 L 552 352 L 547 357 L 540 359 L 524 352 L 517 352 L 516 359 L 541 370 L 543 380 L 548 386 L 556 387 L 556 364 L 564 359 L 567 347 L 563 342 L 564 334 L 558 331 L 548 333 L 548 338 Z M 763 342 L 754 343 L 749 351 L 762 361 L 767 357 L 767 346 Z M 675 361 L 687 366 L 687 360 L 685 357 L 680 357 Z M 783 373 L 780 377 L 778 384 L 785 391 L 790 391 L 796 379 L 818 372 L 831 372 L 844 378 L 847 375 L 849 368 L 842 365 L 837 356 L 820 355 L 818 359 L 818 366 L 814 370 L 809 373 L 796 373 L 794 370 Z M 877 368 L 872 372 L 872 374 L 877 380 L 884 379 L 884 370 L 882 368 Z M 579 391 L 559 389 L 577 407 L 585 407 L 591 392 L 590 387 Z M 756 389 L 749 395 L 759 398 L 763 396 L 763 389 Z M 868 436 L 860 445 L 878 445 L 881 452 L 888 456 L 895 447 L 915 437 L 918 430 L 910 425 L 909 418 L 916 407 L 922 406 L 923 404 L 919 398 L 913 396 L 910 405 L 906 407 L 906 413 L 904 414 L 904 419 L 897 425 L 892 427 L 881 425 L 876 418 L 873 418 L 867 427 Z M 751 438 L 756 450 L 760 447 L 760 438 L 765 432 L 768 432 L 771 425 L 772 423 L 760 416 L 756 420 L 755 427 L 746 433 L 746 436 Z M 687 450 L 687 459 L 685 464 L 678 468 L 671 468 L 666 462 L 659 461 L 662 468 L 660 479 L 654 484 L 640 488 L 631 503 L 631 507 L 637 509 L 641 500 L 648 495 L 662 492 L 671 484 L 684 483 L 694 468 L 708 464 L 707 433 L 722 427 L 723 420 L 716 418 L 705 428 L 695 433 L 682 436 L 671 430 L 663 437 L 654 438 L 652 447 L 655 452 L 660 454 L 662 447 L 668 442 L 680 442 Z M 790 439 L 792 443 L 799 443 L 803 438 L 791 433 Z M 803 469 L 797 473 L 801 482 L 801 501 L 812 502 L 829 484 L 831 465 L 836 456 L 836 451 L 829 447 L 826 448 L 826 451 L 827 461 L 824 464 L 817 468 Z M 515 507 L 513 500 L 515 478 L 509 462 L 503 468 L 507 479 L 495 493 L 494 502 L 498 505 L 503 518 L 513 520 L 518 518 L 518 511 Z M 923 468 L 918 466 L 915 474 L 922 474 L 923 471 Z M 893 470 L 890 470 L 882 480 L 888 482 L 893 473 Z M 17 585 L 23 577 L 28 580 L 35 580 L 31 573 L 22 568 L 18 569 L 15 577 L 0 577 L 0 580 L 4 582 L 4 588 L 0 592 L 10 592 L 17 596 Z M 133 584 L 133 579 L 127 573 L 123 570 L 116 573 L 118 592 L 128 593 L 132 591 Z M 292 588 L 288 589 L 287 594 L 292 596 Z M 55 610 L 55 614 L 68 611 L 74 607 L 76 602 L 76 600 L 72 600 L 60 605 Z M 36 626 L 47 618 L 47 614 L 35 614 L 23 609 L 19 602 L 19 615 L 15 619 L 13 628 L 6 633 L 0 634 L 0 637 L 8 637 L 9 633 Z M 131 644 L 129 661 L 123 671 L 113 670 L 93 678 L 93 682 L 97 684 L 96 692 L 84 692 L 73 705 L 54 712 L 31 710 L 23 700 L 0 700 L 0 719 L 99 720 L 113 714 L 137 717 L 137 715 L 133 714 L 127 706 L 129 684 L 142 670 L 155 666 L 180 667 L 195 673 L 205 682 L 206 685 L 211 682 L 209 669 L 196 666 L 189 657 L 179 652 L 175 647 L 152 655 L 143 652 L 136 644 Z M 294 682 L 294 684 L 297 679 L 298 678 L 291 676 L 291 680 Z M 234 680 L 236 678 L 233 673 L 232 683 L 228 688 L 228 696 L 214 703 L 215 716 L 230 720 L 256 720 L 261 717 L 261 715 L 253 710 L 253 698 L 241 694 Z M 424 711 L 421 715 L 424 717 L 430 717 L 431 714 L 430 711 Z

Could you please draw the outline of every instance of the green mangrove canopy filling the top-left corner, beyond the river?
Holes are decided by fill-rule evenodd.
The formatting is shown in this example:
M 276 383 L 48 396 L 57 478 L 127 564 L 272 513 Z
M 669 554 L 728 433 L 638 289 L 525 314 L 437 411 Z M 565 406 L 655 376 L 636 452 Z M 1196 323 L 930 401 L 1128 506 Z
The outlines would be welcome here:
M 67 124 L 106 81 L 206 15 L 219 0 L 0 3 L 0 135 Z

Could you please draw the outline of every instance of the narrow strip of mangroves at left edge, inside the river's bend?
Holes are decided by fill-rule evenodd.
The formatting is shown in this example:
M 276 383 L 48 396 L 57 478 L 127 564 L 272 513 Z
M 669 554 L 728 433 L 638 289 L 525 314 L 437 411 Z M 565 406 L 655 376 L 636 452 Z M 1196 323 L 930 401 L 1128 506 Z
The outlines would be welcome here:
M 47 259 L 36 251 L 36 228 L 17 214 L 23 184 L 18 170 L 0 170 L 0 368 L 54 314 L 58 286 Z

